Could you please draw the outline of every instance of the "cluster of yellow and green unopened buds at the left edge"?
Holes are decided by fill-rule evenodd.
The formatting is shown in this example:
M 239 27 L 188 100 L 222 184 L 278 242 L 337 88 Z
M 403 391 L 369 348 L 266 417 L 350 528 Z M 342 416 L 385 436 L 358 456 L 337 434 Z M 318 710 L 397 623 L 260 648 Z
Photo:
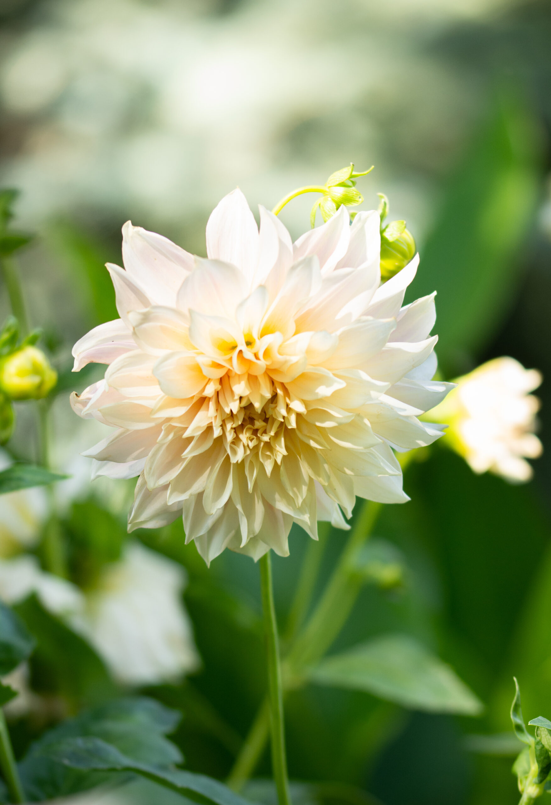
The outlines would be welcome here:
M 14 428 L 12 401 L 41 399 L 57 382 L 56 369 L 35 346 L 38 331 L 19 341 L 19 324 L 10 316 L 0 332 L 0 444 L 6 444 Z

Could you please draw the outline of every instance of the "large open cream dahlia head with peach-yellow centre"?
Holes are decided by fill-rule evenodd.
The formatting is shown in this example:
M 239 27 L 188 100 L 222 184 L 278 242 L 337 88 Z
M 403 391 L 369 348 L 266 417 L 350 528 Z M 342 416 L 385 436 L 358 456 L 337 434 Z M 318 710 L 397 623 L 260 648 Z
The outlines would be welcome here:
M 115 428 L 85 456 L 93 476 L 138 476 L 129 530 L 183 517 L 207 563 L 224 548 L 288 555 L 293 522 L 347 528 L 356 495 L 408 500 L 393 453 L 442 427 L 417 419 L 434 382 L 434 294 L 405 307 L 418 256 L 380 280 L 380 217 L 347 208 L 293 243 L 240 190 L 207 225 L 208 258 L 123 227 L 108 264 L 121 318 L 88 332 L 74 370 L 109 364 L 72 394 Z

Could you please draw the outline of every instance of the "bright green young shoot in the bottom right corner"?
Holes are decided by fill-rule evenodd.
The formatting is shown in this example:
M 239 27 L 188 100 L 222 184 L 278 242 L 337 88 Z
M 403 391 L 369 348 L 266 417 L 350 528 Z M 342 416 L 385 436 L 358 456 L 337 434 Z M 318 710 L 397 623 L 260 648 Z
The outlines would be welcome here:
M 536 727 L 536 736 L 532 738 L 524 726 L 522 708 L 520 707 L 520 690 L 515 679 L 515 698 L 511 706 L 511 720 L 516 737 L 526 744 L 516 761 L 512 772 L 516 774 L 520 794 L 519 805 L 529 805 L 544 791 L 551 791 L 551 721 L 537 716 L 528 721 L 528 726 Z

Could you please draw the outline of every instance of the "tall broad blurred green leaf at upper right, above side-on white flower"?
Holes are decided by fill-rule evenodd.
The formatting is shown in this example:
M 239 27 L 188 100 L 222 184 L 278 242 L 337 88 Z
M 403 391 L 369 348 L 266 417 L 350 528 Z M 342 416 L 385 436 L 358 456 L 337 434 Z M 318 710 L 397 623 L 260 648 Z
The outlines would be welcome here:
M 406 301 L 438 289 L 438 360 L 450 376 L 463 353 L 481 353 L 514 299 L 538 196 L 535 125 L 518 97 L 495 100 L 421 249 Z

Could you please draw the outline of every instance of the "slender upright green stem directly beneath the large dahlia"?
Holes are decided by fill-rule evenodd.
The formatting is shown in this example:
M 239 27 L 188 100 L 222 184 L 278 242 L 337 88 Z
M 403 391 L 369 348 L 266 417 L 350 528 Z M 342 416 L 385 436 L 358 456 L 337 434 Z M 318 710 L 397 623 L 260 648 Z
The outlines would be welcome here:
M 262 612 L 268 663 L 269 723 L 272 735 L 272 771 L 279 805 L 290 805 L 285 729 L 283 725 L 282 667 L 279 661 L 278 623 L 273 605 L 272 563 L 268 551 L 260 560 Z

